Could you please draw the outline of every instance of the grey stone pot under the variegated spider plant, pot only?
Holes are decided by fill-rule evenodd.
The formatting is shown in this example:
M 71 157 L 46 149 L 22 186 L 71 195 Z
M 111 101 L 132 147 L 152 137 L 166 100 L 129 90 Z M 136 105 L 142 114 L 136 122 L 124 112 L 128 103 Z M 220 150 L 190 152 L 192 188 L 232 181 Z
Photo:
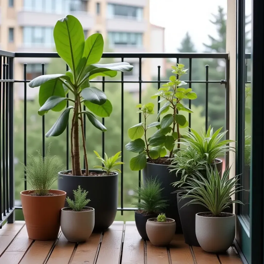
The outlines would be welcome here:
M 227 251 L 235 239 L 235 215 L 206 217 L 200 214 L 195 216 L 195 233 L 202 249 L 211 253 Z

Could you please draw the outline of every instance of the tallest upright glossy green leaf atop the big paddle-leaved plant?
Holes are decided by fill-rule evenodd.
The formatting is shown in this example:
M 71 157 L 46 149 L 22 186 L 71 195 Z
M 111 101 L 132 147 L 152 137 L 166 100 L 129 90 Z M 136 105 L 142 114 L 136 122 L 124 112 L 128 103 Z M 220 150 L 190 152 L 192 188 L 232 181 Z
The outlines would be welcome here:
M 71 70 L 76 70 L 84 51 L 84 33 L 79 20 L 72 15 L 58 20 L 53 36 L 59 56 Z

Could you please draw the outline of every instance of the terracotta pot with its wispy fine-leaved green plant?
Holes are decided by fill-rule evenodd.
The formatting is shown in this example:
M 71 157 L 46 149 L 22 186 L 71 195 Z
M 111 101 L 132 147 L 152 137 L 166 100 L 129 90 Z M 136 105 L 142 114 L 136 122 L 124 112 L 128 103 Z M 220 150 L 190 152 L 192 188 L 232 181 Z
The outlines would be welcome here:
M 60 229 L 60 210 L 64 206 L 66 192 L 50 190 L 51 185 L 58 179 L 61 166 L 50 157 L 50 144 L 45 157 L 37 151 L 36 160 L 29 155 L 32 164 L 24 165 L 25 180 L 32 190 L 20 193 L 23 215 L 26 222 L 27 234 L 34 240 L 54 240 Z M 23 178 L 24 180 L 24 178 Z

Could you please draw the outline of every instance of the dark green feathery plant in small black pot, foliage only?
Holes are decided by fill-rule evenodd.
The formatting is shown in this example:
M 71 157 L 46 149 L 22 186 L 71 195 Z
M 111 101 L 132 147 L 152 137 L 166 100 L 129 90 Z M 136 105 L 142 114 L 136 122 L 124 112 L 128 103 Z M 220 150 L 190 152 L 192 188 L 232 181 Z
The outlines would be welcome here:
M 133 199 L 137 199 L 137 202 L 131 203 L 138 209 L 141 209 L 149 214 L 160 212 L 166 208 L 167 200 L 164 200 L 161 196 L 161 183 L 156 179 L 148 179 L 145 186 L 142 185 L 136 190 L 136 194 L 132 196 Z

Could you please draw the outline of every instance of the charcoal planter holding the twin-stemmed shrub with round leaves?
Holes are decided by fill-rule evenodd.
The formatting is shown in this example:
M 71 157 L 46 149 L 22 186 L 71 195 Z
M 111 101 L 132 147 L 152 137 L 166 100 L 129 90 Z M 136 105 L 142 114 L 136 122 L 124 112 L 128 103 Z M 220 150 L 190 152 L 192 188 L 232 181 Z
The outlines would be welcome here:
M 162 210 L 162 213 L 166 214 L 167 218 L 172 218 L 176 222 L 176 233 L 182 233 L 181 221 L 177 207 L 177 195 L 172 192 L 178 188 L 173 187 L 172 183 L 181 180 L 181 176 L 176 176 L 175 172 L 169 171 L 168 165 L 153 164 L 147 162 L 147 165 L 143 169 L 143 182 L 145 184 L 147 179 L 156 178 L 161 182 L 161 187 L 164 188 L 161 191 L 161 195 L 164 199 L 168 200 L 168 206 Z

